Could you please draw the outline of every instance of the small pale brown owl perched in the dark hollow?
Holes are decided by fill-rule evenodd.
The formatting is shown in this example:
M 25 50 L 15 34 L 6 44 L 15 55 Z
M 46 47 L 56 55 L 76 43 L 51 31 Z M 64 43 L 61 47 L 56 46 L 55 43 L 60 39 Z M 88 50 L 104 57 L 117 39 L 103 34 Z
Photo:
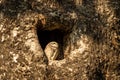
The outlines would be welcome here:
M 57 42 L 49 42 L 44 50 L 48 60 L 55 60 L 59 54 L 59 45 Z

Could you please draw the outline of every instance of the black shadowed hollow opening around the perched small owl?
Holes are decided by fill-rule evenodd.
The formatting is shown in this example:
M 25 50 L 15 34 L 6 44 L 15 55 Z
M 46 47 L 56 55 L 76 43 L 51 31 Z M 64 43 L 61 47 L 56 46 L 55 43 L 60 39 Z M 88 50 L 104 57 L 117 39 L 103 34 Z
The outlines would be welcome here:
M 37 29 L 37 35 L 43 51 L 49 42 L 56 41 L 60 47 L 60 54 L 58 55 L 57 60 L 62 60 L 64 58 L 64 54 L 63 54 L 64 32 L 63 31 L 58 29 L 52 30 L 52 31 Z

